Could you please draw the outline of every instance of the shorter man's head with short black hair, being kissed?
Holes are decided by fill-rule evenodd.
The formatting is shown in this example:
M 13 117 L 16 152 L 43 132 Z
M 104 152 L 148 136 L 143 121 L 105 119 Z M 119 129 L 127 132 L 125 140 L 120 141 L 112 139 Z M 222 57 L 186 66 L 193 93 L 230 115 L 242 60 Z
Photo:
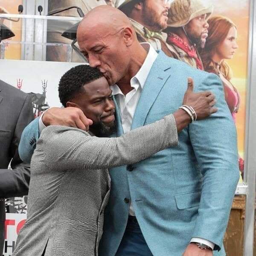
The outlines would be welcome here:
M 68 70 L 59 82 L 59 97 L 64 107 L 78 107 L 98 119 L 114 112 L 112 91 L 99 70 L 79 65 Z M 94 118 L 94 120 L 96 120 Z

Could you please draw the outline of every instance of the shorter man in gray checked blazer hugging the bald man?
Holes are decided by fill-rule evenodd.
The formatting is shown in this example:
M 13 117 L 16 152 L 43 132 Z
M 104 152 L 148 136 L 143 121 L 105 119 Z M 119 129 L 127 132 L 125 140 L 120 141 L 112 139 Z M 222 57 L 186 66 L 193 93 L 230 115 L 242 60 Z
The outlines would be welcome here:
M 215 97 L 192 88 L 189 84 L 183 103 L 195 109 L 197 118 L 215 112 Z M 176 146 L 177 132 L 191 121 L 179 109 L 121 137 L 106 138 L 115 131 L 111 93 L 103 74 L 90 66 L 73 67 L 62 76 L 61 103 L 79 108 L 93 125 L 88 133 L 59 125 L 42 131 L 31 160 L 27 220 L 13 256 L 97 256 L 110 194 L 108 168 Z M 37 120 L 29 126 L 38 126 Z

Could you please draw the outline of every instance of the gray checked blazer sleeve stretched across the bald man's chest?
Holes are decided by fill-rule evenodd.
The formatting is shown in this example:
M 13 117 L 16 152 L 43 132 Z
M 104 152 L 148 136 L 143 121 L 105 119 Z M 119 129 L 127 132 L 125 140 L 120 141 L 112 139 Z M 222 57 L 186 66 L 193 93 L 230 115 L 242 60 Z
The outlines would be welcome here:
M 44 128 L 37 147 L 54 170 L 106 169 L 136 163 L 177 145 L 177 127 L 171 114 L 117 138 L 90 136 L 62 126 Z

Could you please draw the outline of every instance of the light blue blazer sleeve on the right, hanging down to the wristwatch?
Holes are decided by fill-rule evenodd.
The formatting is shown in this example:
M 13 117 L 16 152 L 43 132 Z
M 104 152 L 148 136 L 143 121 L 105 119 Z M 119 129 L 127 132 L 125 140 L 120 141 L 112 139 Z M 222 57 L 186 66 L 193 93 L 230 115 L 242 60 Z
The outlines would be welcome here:
M 203 175 L 201 201 L 193 237 L 207 239 L 220 250 L 239 181 L 236 127 L 214 74 L 198 86 L 216 96 L 218 112 L 189 125 L 189 137 Z

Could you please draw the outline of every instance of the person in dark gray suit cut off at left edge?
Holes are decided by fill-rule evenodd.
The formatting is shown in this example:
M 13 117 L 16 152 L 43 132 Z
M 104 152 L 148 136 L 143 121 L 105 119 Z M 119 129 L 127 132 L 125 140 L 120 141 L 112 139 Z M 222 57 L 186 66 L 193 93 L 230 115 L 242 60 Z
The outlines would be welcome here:
M 33 120 L 30 97 L 0 80 L 0 255 L 4 244 L 5 199 L 27 195 L 29 165 L 20 160 L 18 144 Z M 11 162 L 12 170 L 8 169 Z

